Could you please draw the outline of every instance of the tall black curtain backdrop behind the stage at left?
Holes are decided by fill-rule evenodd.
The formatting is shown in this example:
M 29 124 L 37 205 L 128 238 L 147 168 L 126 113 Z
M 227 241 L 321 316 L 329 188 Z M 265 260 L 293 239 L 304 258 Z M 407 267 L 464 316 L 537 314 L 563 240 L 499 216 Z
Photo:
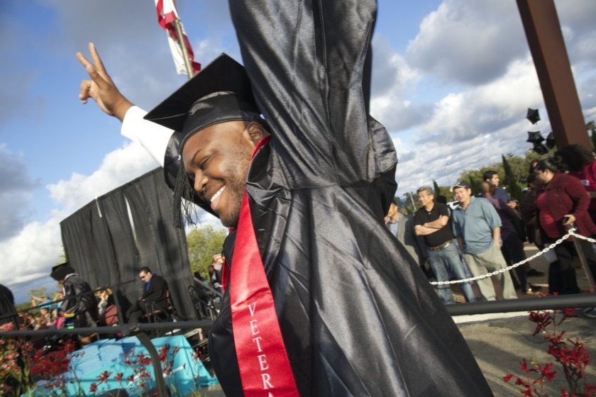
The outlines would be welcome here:
M 161 167 L 96 198 L 60 222 L 68 262 L 92 288 L 117 285 L 123 313 L 143 291 L 138 269 L 147 266 L 167 281 L 180 316 L 194 318 L 186 235 L 172 226 L 171 208 Z

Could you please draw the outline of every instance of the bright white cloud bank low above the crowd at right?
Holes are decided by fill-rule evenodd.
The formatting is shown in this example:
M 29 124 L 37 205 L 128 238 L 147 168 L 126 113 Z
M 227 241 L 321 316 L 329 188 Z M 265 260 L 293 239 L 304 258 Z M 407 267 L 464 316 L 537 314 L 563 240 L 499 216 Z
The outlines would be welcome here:
M 512 62 L 500 79 L 447 94 L 436 102 L 429 121 L 398 133 L 400 140 L 394 140 L 399 158 L 397 194 L 431 185 L 433 180 L 448 186 L 464 169 L 498 162 L 509 152 L 522 155 L 530 148 L 525 142 L 531 127 L 526 109 L 541 105 L 529 57 Z M 548 127 L 548 121 L 539 123 L 538 128 Z

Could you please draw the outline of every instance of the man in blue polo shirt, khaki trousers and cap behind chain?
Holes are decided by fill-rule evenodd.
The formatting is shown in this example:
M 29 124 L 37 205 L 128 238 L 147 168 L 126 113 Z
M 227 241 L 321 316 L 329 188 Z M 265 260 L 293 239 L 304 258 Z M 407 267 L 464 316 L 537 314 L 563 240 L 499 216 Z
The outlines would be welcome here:
M 501 253 L 501 219 L 486 198 L 473 197 L 470 185 L 458 181 L 452 188 L 459 206 L 453 211 L 453 233 L 463 251 L 465 262 L 474 276 L 507 267 Z M 517 293 L 508 272 L 494 276 L 501 284 L 504 299 L 515 299 Z M 490 277 L 477 281 L 487 301 L 496 298 Z

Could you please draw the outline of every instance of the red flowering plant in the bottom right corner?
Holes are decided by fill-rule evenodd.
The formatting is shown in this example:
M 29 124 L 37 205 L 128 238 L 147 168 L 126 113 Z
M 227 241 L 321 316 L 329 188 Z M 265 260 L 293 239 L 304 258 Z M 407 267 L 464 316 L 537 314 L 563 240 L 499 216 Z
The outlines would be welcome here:
M 563 321 L 576 317 L 573 315 L 574 312 L 575 309 L 531 312 L 529 320 L 536 323 L 536 329 L 532 335 L 543 333 L 544 339 L 548 340 L 546 352 L 551 354 L 563 369 L 569 390 L 563 388 L 561 397 L 594 397 L 596 386 L 587 383 L 585 377 L 585 369 L 590 364 L 590 353 L 587 352 L 585 344 L 579 337 L 572 340 L 565 337 L 565 330 L 558 330 L 558 326 Z M 561 313 L 561 319 L 558 319 L 557 313 Z M 534 360 L 527 362 L 523 359 L 519 365 L 523 375 L 507 374 L 503 378 L 504 381 L 514 381 L 524 396 L 548 397 L 545 383 L 553 381 L 556 376 L 554 363 L 540 364 Z

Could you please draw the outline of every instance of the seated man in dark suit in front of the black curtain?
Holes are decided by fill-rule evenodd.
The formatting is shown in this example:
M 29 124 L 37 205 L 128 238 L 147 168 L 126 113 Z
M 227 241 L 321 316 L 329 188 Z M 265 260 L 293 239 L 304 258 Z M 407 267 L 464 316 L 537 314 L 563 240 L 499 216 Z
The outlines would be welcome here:
M 131 323 L 139 323 L 145 314 L 167 308 L 165 279 L 158 274 L 153 274 L 146 266 L 140 268 L 138 278 L 145 283 L 145 286 L 138 301 L 128 309 L 128 321 Z

